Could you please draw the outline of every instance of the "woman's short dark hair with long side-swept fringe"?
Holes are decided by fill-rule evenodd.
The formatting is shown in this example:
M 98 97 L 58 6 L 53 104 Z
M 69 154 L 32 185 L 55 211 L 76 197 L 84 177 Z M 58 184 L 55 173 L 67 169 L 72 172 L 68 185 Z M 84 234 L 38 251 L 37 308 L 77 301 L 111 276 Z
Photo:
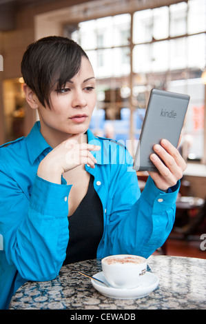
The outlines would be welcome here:
M 57 83 L 61 89 L 81 68 L 85 51 L 66 37 L 43 37 L 28 45 L 21 61 L 24 82 L 37 95 L 40 103 L 50 107 L 50 93 Z

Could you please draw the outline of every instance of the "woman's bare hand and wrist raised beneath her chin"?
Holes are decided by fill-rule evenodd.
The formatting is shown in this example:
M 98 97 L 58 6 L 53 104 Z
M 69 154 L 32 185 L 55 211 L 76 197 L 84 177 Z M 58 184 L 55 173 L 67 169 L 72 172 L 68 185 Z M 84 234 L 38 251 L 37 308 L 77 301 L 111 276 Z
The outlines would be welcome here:
M 74 134 L 70 139 L 56 146 L 39 163 L 37 175 L 47 181 L 61 184 L 61 175 L 78 165 L 87 164 L 90 165 L 90 168 L 94 168 L 96 159 L 91 151 L 98 151 L 101 147 L 99 145 L 79 143 L 80 136 Z

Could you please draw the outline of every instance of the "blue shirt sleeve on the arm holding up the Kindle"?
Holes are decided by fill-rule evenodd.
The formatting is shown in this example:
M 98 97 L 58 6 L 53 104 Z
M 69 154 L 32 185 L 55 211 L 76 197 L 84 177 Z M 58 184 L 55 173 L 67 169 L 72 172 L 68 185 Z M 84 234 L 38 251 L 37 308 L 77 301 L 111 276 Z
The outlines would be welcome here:
M 136 172 L 123 166 L 110 197 L 103 256 L 137 254 L 149 257 L 172 230 L 180 181 L 167 193 L 158 190 L 149 176 L 145 189 L 138 188 Z

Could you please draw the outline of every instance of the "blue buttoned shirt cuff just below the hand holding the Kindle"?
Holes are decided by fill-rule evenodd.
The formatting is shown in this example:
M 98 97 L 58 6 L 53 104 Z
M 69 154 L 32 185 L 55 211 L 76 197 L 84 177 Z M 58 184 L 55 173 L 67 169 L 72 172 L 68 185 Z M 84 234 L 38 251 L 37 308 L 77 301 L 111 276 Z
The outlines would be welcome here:
M 165 212 L 176 204 L 180 185 L 181 181 L 178 181 L 174 187 L 169 188 L 168 192 L 163 192 L 156 187 L 153 179 L 149 176 L 142 195 L 147 203 L 152 205 L 154 212 Z

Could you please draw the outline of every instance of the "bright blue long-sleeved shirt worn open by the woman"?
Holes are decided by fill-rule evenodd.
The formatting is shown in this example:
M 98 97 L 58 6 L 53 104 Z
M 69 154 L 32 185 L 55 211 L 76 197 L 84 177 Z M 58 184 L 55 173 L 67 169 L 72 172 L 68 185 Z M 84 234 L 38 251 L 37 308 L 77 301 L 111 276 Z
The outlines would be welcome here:
M 146 258 L 163 245 L 172 230 L 179 181 L 169 193 L 149 177 L 141 194 L 133 161 L 125 147 L 96 138 L 94 189 L 101 199 L 104 231 L 97 258 L 137 254 Z M 69 240 L 68 195 L 72 185 L 50 183 L 37 176 L 41 160 L 52 148 L 34 124 L 30 134 L 0 148 L 0 308 L 26 281 L 50 281 L 61 269 Z

